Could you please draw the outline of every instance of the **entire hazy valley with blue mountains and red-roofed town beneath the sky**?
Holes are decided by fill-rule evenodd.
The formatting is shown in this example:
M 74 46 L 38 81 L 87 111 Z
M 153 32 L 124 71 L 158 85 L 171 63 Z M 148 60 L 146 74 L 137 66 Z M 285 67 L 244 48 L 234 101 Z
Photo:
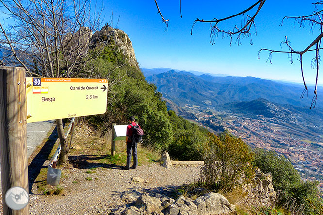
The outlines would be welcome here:
M 145 70 L 169 109 L 211 132 L 228 130 L 250 147 L 284 155 L 323 192 L 323 103 L 309 108 L 302 86 L 254 77 Z M 322 88 L 321 88 L 322 90 Z

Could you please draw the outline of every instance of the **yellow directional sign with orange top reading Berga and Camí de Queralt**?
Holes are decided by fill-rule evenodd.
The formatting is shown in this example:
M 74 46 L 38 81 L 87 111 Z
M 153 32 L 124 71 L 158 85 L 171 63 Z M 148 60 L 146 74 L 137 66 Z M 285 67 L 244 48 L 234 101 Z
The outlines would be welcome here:
M 27 123 L 103 114 L 106 79 L 26 77 Z

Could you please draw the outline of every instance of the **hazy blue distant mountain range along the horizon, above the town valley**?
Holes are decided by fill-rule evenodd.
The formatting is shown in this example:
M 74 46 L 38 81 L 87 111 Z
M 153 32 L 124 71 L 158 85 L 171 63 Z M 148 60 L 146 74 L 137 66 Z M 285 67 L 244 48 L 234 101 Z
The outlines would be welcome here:
M 310 107 L 314 89 L 309 88 L 308 99 L 300 99 L 303 87 L 255 77 L 220 77 L 209 74 L 194 75 L 191 72 L 167 69 L 145 69 L 148 82 L 154 83 L 163 97 L 178 106 L 185 104 L 200 107 L 217 107 L 230 102 L 252 101 L 259 98 L 281 104 Z M 323 107 L 318 98 L 317 107 Z

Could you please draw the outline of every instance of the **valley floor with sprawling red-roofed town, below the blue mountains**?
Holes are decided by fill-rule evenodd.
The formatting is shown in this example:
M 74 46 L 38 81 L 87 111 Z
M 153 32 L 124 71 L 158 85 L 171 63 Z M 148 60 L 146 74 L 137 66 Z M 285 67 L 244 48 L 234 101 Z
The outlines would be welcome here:
M 248 117 L 189 105 L 184 110 L 196 117 L 195 122 L 215 133 L 228 130 L 252 148 L 273 150 L 284 155 L 304 180 L 319 180 L 323 191 L 323 130 L 314 134 L 296 119 L 292 121 L 294 125 L 286 123 L 284 116 L 276 119 L 263 115 Z

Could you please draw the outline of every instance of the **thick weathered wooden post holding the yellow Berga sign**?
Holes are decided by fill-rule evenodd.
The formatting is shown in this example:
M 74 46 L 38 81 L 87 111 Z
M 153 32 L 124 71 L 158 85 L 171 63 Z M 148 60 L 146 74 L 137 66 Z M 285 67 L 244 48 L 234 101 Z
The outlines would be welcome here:
M 25 69 L 0 67 L 0 158 L 4 215 L 28 215 L 28 205 L 12 210 L 5 203 L 8 189 L 28 192 L 27 109 Z

